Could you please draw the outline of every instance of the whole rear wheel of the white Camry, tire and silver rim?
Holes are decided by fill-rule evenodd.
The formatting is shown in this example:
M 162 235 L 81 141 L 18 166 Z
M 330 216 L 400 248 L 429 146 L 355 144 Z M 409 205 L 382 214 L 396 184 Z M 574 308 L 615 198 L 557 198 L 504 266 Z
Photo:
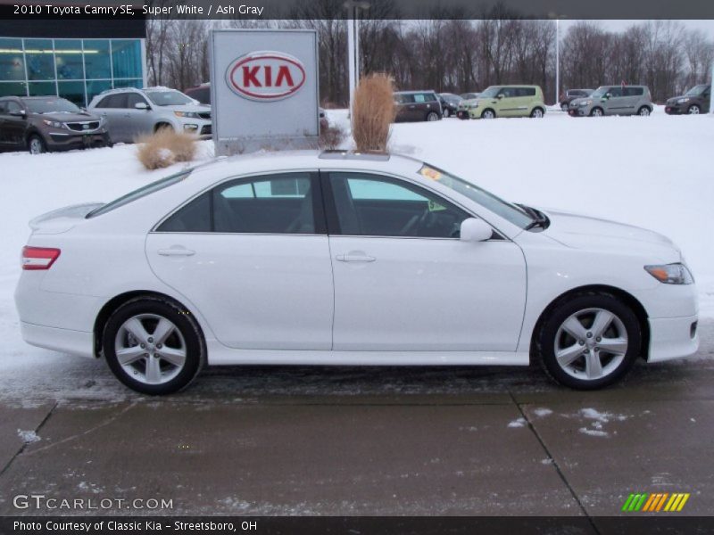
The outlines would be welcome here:
M 104 358 L 130 389 L 170 394 L 191 383 L 203 366 L 203 338 L 195 319 L 170 300 L 137 298 L 104 326 Z

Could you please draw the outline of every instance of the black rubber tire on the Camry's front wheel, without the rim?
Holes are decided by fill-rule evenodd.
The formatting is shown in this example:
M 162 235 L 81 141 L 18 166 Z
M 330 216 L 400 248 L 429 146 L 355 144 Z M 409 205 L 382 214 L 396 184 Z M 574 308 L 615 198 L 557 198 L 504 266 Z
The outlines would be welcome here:
M 624 358 L 619 365 L 612 368 L 609 374 L 599 379 L 587 379 L 585 373 L 583 373 L 583 379 L 578 379 L 567 373 L 555 358 L 556 337 L 560 326 L 573 314 L 586 309 L 609 311 L 619 318 L 627 331 L 627 351 Z M 556 383 L 576 390 L 597 390 L 618 382 L 627 374 L 635 363 L 635 359 L 640 355 L 642 339 L 640 322 L 635 316 L 635 312 L 627 304 L 610 293 L 584 292 L 561 300 L 549 311 L 548 316 L 545 317 L 535 334 L 535 351 L 536 355 L 540 357 L 546 374 Z M 603 351 L 602 355 L 607 355 L 607 352 Z M 605 358 L 607 359 L 607 357 Z

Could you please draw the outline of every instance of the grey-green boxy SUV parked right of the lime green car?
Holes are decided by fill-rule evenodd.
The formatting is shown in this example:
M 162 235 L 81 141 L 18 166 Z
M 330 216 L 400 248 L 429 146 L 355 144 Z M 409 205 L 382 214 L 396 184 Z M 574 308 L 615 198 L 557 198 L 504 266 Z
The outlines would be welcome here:
M 600 86 L 593 95 L 570 103 L 571 117 L 602 117 L 602 115 L 649 115 L 652 96 L 647 86 Z

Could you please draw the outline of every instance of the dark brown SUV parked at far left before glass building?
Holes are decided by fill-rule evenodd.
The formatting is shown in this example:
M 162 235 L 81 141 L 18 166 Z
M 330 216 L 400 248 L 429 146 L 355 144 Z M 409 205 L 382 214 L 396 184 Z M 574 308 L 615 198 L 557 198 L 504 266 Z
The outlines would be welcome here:
M 104 120 L 58 96 L 0 98 L 0 149 L 32 154 L 110 144 Z

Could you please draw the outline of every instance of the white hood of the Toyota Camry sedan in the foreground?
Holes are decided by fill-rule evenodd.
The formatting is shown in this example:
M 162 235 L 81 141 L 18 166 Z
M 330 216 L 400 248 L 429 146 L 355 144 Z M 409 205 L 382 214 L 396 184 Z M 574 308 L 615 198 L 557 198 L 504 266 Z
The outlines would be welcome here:
M 567 247 L 641 253 L 663 262 L 682 258 L 675 243 L 652 230 L 560 210 L 541 211 L 551 219 L 544 234 Z

